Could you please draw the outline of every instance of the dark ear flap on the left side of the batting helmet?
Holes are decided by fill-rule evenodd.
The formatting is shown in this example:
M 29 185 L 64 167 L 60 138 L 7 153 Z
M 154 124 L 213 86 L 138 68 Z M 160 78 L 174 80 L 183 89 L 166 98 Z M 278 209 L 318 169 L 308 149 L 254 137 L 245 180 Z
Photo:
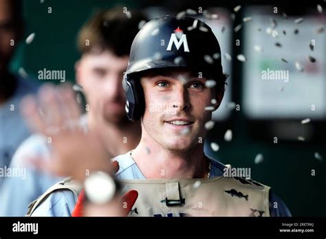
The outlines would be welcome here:
M 140 120 L 144 114 L 144 90 L 140 84 L 140 80 L 124 76 L 122 87 L 126 93 L 125 110 L 130 121 Z

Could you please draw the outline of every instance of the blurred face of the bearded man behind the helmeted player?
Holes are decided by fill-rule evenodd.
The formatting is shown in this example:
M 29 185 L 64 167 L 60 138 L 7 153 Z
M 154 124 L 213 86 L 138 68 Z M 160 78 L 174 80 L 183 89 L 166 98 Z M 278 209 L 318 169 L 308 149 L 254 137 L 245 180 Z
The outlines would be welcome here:
M 106 122 L 127 122 L 122 89 L 123 73 L 129 56 L 118 57 L 109 51 L 85 54 L 76 65 L 78 83 L 83 87 L 89 113 Z

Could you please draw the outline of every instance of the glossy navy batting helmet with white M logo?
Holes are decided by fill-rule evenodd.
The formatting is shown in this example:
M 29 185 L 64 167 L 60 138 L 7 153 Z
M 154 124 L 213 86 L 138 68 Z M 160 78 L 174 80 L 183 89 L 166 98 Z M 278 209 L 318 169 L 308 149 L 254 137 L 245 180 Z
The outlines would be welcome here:
M 221 66 L 219 42 L 206 23 L 184 16 L 164 16 L 146 23 L 131 45 L 129 65 L 124 74 L 126 112 L 129 120 L 144 114 L 142 73 L 150 69 L 186 68 L 213 77 L 217 85 L 226 75 Z M 219 84 L 219 82 L 221 84 Z

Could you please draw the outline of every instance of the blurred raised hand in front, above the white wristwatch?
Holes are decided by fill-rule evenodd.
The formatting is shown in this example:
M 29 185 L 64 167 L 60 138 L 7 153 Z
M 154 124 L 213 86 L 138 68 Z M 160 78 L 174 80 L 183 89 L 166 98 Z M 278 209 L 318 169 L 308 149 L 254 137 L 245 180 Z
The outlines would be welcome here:
M 37 97 L 23 99 L 21 110 L 31 130 L 47 137 L 50 161 L 30 159 L 36 168 L 83 181 L 93 170 L 113 174 L 110 159 L 98 132 L 80 127 L 80 107 L 70 84 L 43 86 Z

